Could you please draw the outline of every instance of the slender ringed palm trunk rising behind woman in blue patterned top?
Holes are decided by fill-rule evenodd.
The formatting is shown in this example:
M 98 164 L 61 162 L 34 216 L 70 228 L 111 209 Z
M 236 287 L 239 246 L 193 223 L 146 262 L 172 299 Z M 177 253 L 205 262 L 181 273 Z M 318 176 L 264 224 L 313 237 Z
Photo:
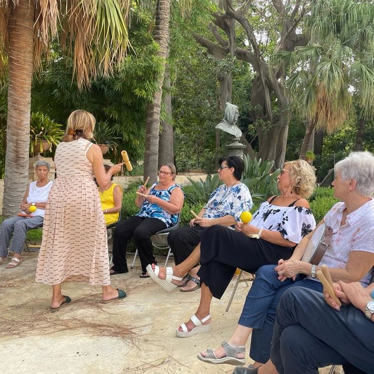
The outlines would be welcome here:
M 164 59 L 164 69 L 157 81 L 158 90 L 153 95 L 152 102 L 147 105 L 144 175 L 150 176 L 150 183 L 157 181 L 160 109 L 162 100 L 162 85 L 165 75 L 165 64 L 168 57 L 170 0 L 157 1 L 155 18 L 154 41 L 160 46 L 158 55 Z

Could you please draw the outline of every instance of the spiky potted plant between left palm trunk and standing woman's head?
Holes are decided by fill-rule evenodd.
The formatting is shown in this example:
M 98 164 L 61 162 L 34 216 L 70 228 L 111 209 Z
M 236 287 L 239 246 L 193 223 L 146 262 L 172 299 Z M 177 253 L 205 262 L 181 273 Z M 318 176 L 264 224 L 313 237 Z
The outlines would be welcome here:
M 30 116 L 30 155 L 48 150 L 57 145 L 64 135 L 62 125 L 56 123 L 42 112 L 32 112 Z

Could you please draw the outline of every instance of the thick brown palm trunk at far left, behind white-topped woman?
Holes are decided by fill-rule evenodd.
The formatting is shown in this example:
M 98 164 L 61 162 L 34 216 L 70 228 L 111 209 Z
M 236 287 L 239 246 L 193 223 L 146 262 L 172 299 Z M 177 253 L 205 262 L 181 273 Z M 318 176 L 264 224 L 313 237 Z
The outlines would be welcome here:
M 19 0 L 9 18 L 9 88 L 3 215 L 20 211 L 29 175 L 34 1 Z

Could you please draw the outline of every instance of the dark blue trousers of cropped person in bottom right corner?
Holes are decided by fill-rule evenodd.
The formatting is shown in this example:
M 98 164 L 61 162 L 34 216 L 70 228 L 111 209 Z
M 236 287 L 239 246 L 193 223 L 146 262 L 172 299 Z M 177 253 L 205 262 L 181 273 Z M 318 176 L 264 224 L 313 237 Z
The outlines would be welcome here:
M 318 292 L 297 287 L 281 298 L 271 361 L 280 374 L 317 374 L 320 367 L 346 364 L 374 374 L 373 337 L 374 323 L 353 305 L 337 312 Z

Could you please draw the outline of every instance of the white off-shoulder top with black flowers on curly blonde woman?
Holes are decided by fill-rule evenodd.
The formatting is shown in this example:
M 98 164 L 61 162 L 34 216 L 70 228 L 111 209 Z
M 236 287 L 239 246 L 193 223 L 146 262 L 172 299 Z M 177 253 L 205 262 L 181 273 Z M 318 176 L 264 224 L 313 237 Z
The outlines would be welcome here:
M 279 231 L 284 239 L 299 243 L 316 227 L 312 211 L 302 206 L 277 206 L 263 202 L 249 223 L 258 228 Z

